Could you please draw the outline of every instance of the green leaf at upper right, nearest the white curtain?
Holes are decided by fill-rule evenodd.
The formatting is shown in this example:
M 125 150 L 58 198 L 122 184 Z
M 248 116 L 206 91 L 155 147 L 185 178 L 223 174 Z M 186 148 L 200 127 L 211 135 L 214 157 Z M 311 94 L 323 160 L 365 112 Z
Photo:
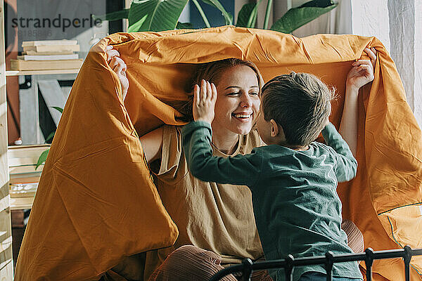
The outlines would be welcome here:
M 328 13 L 337 7 L 337 3 L 327 0 L 314 0 L 303 4 L 298 8 L 291 8 L 279 20 L 274 22 L 271 30 L 276 30 L 284 33 L 291 33 L 297 30 L 302 25 L 318 18 L 324 13 Z

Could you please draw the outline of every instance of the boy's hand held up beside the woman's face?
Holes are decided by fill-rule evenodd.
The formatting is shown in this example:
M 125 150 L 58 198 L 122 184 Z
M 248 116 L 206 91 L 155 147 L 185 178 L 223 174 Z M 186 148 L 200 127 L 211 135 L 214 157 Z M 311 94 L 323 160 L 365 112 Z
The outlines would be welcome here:
M 217 89 L 214 83 L 202 80 L 200 86 L 193 88 L 193 119 L 212 123 Z

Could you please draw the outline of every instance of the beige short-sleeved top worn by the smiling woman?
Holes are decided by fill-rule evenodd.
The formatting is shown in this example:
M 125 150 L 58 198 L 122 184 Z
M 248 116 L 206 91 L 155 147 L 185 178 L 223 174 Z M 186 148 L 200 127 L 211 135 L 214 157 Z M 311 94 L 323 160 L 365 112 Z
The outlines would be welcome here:
M 214 251 L 225 264 L 263 256 L 249 188 L 194 178 L 188 171 L 180 129 L 164 126 L 160 171 L 155 177 L 162 203 L 179 228 L 179 237 L 173 247 L 147 253 L 145 280 L 170 252 L 184 244 Z M 256 130 L 239 136 L 239 143 L 233 155 L 247 154 L 264 144 Z M 213 152 L 228 156 L 214 147 Z

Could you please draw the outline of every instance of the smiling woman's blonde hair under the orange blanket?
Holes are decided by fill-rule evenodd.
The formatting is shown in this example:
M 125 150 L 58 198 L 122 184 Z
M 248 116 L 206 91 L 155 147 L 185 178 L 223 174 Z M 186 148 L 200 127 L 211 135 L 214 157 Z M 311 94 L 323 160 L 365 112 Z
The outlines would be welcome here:
M 216 60 L 210 63 L 201 63 L 196 68 L 196 72 L 193 74 L 191 83 L 188 84 L 186 92 L 191 93 L 188 97 L 188 101 L 184 104 L 181 108 L 179 108 L 179 112 L 181 112 L 184 117 L 180 117 L 179 119 L 182 121 L 189 122 L 193 120 L 192 115 L 192 104 L 193 104 L 193 87 L 198 84 L 200 85 L 200 81 L 204 79 L 205 81 L 209 81 L 210 83 L 218 84 L 219 79 L 222 78 L 222 74 L 224 71 L 228 70 L 231 67 L 236 66 L 248 66 L 250 67 L 255 74 L 257 75 L 258 86 L 260 87 L 260 94 L 261 88 L 264 84 L 262 79 L 260 70 L 255 65 L 255 63 L 250 62 L 249 60 L 241 60 L 240 58 L 226 58 L 225 60 Z

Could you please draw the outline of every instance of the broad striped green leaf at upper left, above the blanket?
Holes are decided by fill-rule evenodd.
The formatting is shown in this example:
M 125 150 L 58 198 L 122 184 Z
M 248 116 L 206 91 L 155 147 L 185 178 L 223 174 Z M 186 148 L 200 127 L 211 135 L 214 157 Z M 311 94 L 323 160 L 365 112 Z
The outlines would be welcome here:
M 188 0 L 134 0 L 128 32 L 174 30 Z

